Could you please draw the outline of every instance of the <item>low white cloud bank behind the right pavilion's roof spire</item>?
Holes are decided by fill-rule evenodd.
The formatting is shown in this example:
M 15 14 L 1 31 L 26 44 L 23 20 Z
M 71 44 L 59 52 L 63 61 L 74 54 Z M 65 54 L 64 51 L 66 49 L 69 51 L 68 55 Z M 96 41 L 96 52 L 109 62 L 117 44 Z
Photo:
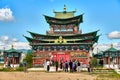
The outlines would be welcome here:
M 116 42 L 116 43 L 112 43 L 112 44 L 115 49 L 120 50 L 120 42 Z M 97 53 L 100 51 L 105 51 L 105 50 L 109 49 L 110 47 L 111 47 L 111 44 L 97 44 L 94 47 L 93 52 Z

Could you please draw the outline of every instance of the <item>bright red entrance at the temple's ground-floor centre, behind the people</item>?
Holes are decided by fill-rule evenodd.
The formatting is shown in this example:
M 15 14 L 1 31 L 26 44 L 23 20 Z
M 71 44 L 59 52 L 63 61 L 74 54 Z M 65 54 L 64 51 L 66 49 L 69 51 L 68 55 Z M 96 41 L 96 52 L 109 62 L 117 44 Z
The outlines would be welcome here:
M 66 60 L 69 61 L 70 60 L 70 54 L 65 54 L 65 53 L 56 53 L 56 54 L 52 54 L 52 59 L 54 61 L 58 61 L 58 63 L 60 63 L 60 61 L 65 62 Z

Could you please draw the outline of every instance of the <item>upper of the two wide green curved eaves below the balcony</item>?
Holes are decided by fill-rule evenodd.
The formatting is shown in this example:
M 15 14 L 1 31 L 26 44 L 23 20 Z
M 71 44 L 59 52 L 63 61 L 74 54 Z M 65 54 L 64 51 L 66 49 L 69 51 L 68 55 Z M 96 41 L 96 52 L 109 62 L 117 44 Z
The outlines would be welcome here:
M 71 34 L 71 35 L 62 35 L 63 37 L 74 37 L 74 36 L 87 36 L 87 35 L 93 35 L 93 36 L 96 36 L 97 35 L 97 31 L 94 31 L 94 32 L 89 32 L 89 33 L 84 33 L 84 34 Z M 44 34 L 38 34 L 38 33 L 34 33 L 34 32 L 30 32 L 30 31 L 27 31 L 31 34 L 32 37 L 35 37 L 36 35 L 38 36 L 41 36 L 41 37 L 55 37 L 55 38 L 58 38 L 60 35 L 44 35 Z

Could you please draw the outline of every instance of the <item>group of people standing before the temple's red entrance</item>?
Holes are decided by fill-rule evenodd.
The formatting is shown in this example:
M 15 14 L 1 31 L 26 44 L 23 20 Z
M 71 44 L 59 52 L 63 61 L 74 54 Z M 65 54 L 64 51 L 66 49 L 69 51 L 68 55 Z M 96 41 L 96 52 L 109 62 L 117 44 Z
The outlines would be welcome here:
M 65 71 L 65 72 L 68 72 L 68 70 L 70 72 L 81 72 L 81 70 L 82 70 L 82 63 L 79 62 L 79 61 L 72 61 L 72 60 L 70 60 L 68 62 L 66 60 L 65 62 L 62 62 L 60 60 L 60 62 L 58 62 L 56 60 L 56 61 L 52 62 L 52 64 L 51 64 L 51 61 L 49 61 L 49 60 L 47 60 L 47 61 L 44 62 L 44 68 L 47 71 L 50 70 L 50 65 L 55 66 L 56 72 L 58 71 L 58 68 L 63 69 L 63 71 Z M 90 68 L 91 68 L 91 64 L 88 63 L 88 65 L 87 65 L 88 72 L 91 71 Z

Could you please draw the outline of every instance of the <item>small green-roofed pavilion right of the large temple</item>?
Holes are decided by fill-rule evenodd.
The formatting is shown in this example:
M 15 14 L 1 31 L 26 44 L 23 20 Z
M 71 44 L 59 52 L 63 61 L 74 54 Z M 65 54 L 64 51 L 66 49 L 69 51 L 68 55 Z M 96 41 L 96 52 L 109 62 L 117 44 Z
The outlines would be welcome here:
M 118 68 L 120 65 L 120 50 L 117 50 L 111 44 L 111 47 L 95 55 L 97 59 L 103 61 L 105 68 Z

